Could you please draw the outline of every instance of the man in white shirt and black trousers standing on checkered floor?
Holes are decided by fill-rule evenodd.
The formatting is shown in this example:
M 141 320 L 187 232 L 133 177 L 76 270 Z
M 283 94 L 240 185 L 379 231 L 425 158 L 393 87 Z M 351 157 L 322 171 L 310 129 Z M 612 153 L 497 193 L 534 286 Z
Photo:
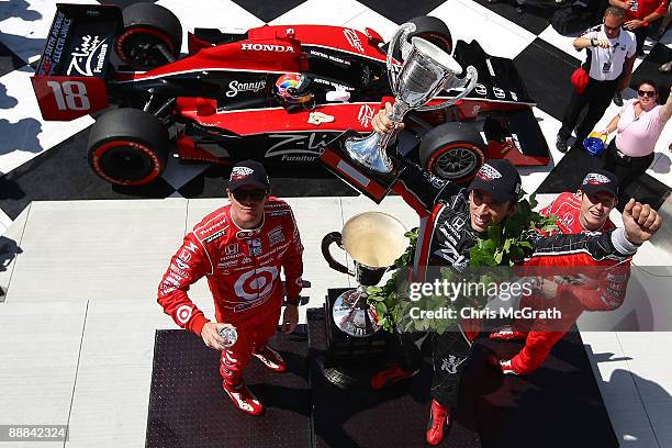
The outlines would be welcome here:
M 589 82 L 583 93 L 572 92 L 570 103 L 564 110 L 562 127 L 556 142 L 556 148 L 561 153 L 567 153 L 567 141 L 581 111 L 587 107 L 585 117 L 576 128 L 576 147 L 600 121 L 614 93 L 630 83 L 636 44 L 635 35 L 620 29 L 624 21 L 625 12 L 609 7 L 601 25 L 589 29 L 573 42 L 576 51 L 587 51 L 583 67 L 589 71 Z

